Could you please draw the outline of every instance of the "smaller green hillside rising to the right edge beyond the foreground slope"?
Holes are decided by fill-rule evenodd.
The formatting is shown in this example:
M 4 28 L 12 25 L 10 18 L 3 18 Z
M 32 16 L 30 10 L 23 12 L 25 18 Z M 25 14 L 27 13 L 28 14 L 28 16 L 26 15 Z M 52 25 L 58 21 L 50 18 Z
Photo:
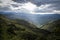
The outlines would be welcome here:
M 47 24 L 43 25 L 41 29 L 49 30 L 53 32 L 55 29 L 60 28 L 60 19 L 55 21 L 50 21 Z

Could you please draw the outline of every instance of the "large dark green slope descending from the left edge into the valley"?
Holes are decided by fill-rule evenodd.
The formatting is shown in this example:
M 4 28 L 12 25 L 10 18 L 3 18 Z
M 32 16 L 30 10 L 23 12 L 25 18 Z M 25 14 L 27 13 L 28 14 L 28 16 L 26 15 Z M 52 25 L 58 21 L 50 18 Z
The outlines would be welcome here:
M 0 40 L 40 40 L 48 33 L 25 20 L 10 20 L 0 14 Z

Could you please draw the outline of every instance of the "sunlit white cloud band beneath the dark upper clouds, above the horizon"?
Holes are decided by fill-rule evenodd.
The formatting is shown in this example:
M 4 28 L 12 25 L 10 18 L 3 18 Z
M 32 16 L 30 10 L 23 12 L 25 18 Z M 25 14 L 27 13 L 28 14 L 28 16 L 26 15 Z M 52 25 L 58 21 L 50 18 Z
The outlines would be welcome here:
M 53 4 L 41 4 L 37 6 L 32 2 L 18 3 L 12 0 L 0 0 L 0 11 L 24 12 L 28 14 L 54 14 L 60 13 Z

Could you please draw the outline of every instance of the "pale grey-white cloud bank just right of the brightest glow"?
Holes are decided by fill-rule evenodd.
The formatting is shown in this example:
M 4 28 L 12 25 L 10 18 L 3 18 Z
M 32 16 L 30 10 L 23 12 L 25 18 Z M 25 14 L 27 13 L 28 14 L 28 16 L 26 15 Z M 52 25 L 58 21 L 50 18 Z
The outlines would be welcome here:
M 35 9 L 37 13 L 52 12 L 53 8 L 50 8 L 51 4 L 41 5 Z

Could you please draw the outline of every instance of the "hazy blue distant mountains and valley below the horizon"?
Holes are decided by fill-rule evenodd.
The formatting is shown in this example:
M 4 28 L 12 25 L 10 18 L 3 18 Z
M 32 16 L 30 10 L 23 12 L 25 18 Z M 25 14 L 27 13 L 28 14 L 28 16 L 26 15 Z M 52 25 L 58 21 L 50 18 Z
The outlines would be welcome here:
M 27 14 L 27 13 L 17 13 L 17 12 L 0 12 L 0 14 L 5 15 L 9 19 L 24 19 L 32 22 L 37 27 L 44 25 L 49 21 L 54 21 L 60 19 L 60 14 Z

